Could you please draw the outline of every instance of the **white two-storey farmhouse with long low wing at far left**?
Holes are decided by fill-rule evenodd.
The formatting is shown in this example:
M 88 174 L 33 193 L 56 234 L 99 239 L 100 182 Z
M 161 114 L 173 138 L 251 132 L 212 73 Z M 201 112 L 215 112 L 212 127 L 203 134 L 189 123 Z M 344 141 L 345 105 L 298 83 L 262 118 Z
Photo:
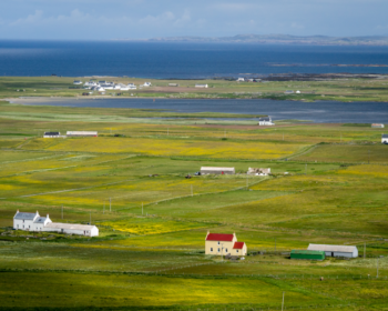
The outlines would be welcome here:
M 99 235 L 99 228 L 95 225 L 52 222 L 49 214 L 47 217 L 41 217 L 38 211 L 35 213 L 25 213 L 19 212 L 18 210 L 13 217 L 13 229 L 34 232 L 59 232 L 86 237 Z

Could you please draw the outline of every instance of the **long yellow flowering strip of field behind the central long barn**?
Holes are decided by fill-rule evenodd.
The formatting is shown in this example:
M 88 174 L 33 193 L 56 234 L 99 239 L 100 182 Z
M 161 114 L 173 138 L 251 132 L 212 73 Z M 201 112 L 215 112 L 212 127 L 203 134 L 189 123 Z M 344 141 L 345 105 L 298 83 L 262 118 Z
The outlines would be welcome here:
M 43 139 L 35 139 L 25 144 L 24 148 L 45 149 L 50 151 L 125 152 L 164 157 L 190 156 L 217 159 L 278 159 L 290 156 L 307 147 L 307 144 L 298 143 L 155 138 L 82 138 L 58 140 L 51 144 L 42 140 Z

